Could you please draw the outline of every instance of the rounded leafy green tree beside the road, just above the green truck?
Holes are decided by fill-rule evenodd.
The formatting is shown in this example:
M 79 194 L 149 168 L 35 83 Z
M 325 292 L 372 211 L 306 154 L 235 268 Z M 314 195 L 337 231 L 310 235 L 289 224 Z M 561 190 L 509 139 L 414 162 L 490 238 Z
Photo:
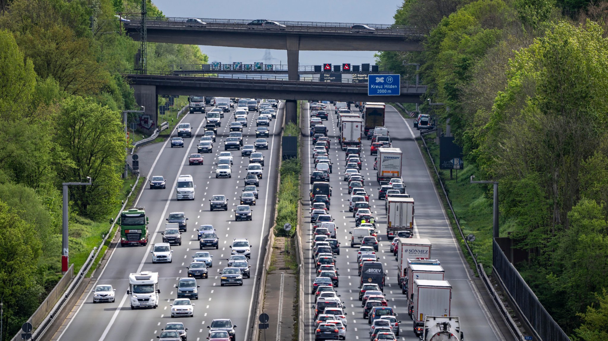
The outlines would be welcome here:
M 70 198 L 80 214 L 105 217 L 122 188 L 126 137 L 120 113 L 91 98 L 71 96 L 61 105 L 56 130 L 55 143 L 72 163 L 57 167 L 60 181 L 91 177 L 92 186 L 72 187 Z

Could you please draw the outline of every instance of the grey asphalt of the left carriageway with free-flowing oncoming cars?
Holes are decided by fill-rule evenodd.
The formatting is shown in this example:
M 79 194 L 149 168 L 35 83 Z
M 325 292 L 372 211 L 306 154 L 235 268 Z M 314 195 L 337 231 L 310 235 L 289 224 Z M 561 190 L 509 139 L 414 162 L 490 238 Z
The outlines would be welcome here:
M 224 113 L 221 127 L 213 145 L 213 153 L 203 154 L 204 165 L 189 166 L 188 156 L 196 153 L 199 137 L 204 133 L 204 114 L 188 114 L 182 122 L 192 124 L 192 138 L 184 138 L 184 148 L 170 148 L 170 144 L 156 143 L 142 147 L 137 151 L 142 174 L 148 178 L 151 175 L 162 175 L 167 180 L 167 189 L 150 189 L 145 184 L 135 206 L 145 206 L 150 218 L 150 243 L 145 247 L 117 246 L 109 252 L 109 260 L 96 275 L 97 284 L 111 284 L 116 289 L 116 303 L 92 302 L 90 292 L 84 292 L 82 305 L 74 306 L 62 328 L 52 337 L 53 340 L 156 340 L 167 322 L 183 322 L 188 328 L 188 340 L 205 340 L 208 336 L 207 326 L 213 319 L 232 319 L 237 325 L 236 340 L 250 339 L 247 326 L 252 319 L 252 302 L 257 297 L 254 283 L 261 271 L 260 263 L 265 245 L 263 241 L 268 235 L 271 220 L 274 218 L 274 189 L 277 186 L 277 161 L 280 147 L 280 130 L 283 120 L 283 103 L 280 104 L 277 119 L 271 121 L 268 138 L 269 150 L 260 150 L 266 157 L 264 176 L 260 180 L 260 192 L 257 206 L 252 206 L 253 221 L 234 221 L 232 210 L 239 204 L 238 198 L 243 190 L 243 178 L 246 175 L 248 157 L 241 157 L 239 150 L 233 150 L 232 178 L 215 178 L 213 166 L 219 152 L 224 151 L 224 137 L 228 135 L 229 123 L 233 113 Z M 211 109 L 211 107 L 207 107 Z M 243 129 L 244 144 L 255 140 L 255 118 L 257 113 L 248 115 L 249 126 Z M 196 132 L 196 133 L 195 133 Z M 174 132 L 175 134 L 175 132 Z M 176 135 L 174 135 L 176 136 Z M 196 198 L 192 201 L 177 201 L 174 191 L 179 174 L 190 174 L 196 184 Z M 209 199 L 212 195 L 224 194 L 229 197 L 228 211 L 209 211 Z M 187 232 L 182 234 L 182 245 L 171 246 L 173 263 L 152 264 L 150 250 L 154 243 L 162 241 L 161 232 L 165 229 L 165 218 L 170 212 L 182 211 L 188 217 Z M 176 298 L 174 285 L 178 279 L 187 276 L 186 267 L 192 260 L 192 255 L 199 251 L 195 229 L 199 225 L 212 224 L 219 237 L 219 249 L 207 249 L 213 257 L 213 267 L 209 269 L 209 279 L 197 279 L 199 299 L 193 300 L 193 317 L 171 319 L 170 304 Z M 226 266 L 226 258 L 230 256 L 229 245 L 233 238 L 248 238 L 252 244 L 250 279 L 243 279 L 243 286 L 219 285 L 218 272 Z M 116 241 L 116 240 L 115 240 Z M 126 290 L 128 276 L 131 272 L 152 271 L 159 273 L 159 288 L 161 303 L 157 309 L 130 309 Z M 254 292 L 255 291 L 255 292 Z M 253 312 L 255 313 L 255 312 Z

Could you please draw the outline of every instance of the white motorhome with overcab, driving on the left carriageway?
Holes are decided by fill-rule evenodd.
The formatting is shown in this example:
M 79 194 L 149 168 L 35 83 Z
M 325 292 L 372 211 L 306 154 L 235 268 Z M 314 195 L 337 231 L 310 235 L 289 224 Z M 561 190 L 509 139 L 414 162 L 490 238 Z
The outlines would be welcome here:
M 158 288 L 158 272 L 142 271 L 129 275 L 129 289 L 131 309 L 154 308 L 158 306 L 161 289 Z

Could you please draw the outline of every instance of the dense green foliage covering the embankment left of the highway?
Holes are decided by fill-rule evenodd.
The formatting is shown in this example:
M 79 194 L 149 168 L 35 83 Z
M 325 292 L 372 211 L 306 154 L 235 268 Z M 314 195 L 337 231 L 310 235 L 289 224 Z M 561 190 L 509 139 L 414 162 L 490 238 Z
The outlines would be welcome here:
M 120 110 L 135 109 L 122 73 L 139 47 L 116 12 L 137 0 L 0 1 L 0 299 L 10 339 L 60 278 L 61 183 L 70 189 L 70 250 L 116 214 L 123 189 Z M 162 16 L 151 2 L 148 15 Z M 196 46 L 152 44 L 148 69 L 207 61 Z M 98 224 L 98 223 L 97 223 Z M 106 223 L 107 225 L 107 223 Z

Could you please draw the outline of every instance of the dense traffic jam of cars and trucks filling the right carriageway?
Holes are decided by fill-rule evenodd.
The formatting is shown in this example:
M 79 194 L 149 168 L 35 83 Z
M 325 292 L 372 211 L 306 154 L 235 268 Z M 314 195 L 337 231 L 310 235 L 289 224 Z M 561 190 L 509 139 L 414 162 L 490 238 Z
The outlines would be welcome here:
M 401 149 L 384 126 L 385 104 L 354 107 L 308 106 L 314 339 L 396 341 L 409 332 L 408 339 L 460 341 L 452 287 L 430 241 L 416 235 L 414 198 L 402 179 Z

